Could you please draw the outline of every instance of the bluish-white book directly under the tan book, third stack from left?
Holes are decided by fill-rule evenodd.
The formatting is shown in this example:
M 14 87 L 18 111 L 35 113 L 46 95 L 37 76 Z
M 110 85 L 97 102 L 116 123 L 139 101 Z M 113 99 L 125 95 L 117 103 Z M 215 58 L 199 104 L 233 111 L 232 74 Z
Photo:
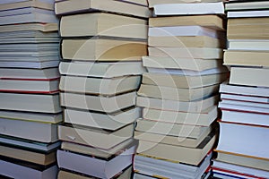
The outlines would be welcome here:
M 190 26 L 169 26 L 169 27 L 150 27 L 149 37 L 193 37 L 193 36 L 207 36 L 210 38 L 223 38 L 223 33 L 217 30 L 204 28 L 198 25 Z

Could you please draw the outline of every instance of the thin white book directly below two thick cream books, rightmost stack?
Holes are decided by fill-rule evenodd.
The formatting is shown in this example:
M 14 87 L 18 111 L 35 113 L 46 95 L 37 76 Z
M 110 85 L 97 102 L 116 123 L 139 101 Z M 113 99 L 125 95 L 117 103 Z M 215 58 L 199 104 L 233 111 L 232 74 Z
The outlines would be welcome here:
M 266 88 L 256 88 L 247 86 L 238 86 L 228 84 L 227 81 L 221 83 L 221 93 L 231 93 L 245 96 L 256 96 L 256 97 L 269 97 L 269 90 Z

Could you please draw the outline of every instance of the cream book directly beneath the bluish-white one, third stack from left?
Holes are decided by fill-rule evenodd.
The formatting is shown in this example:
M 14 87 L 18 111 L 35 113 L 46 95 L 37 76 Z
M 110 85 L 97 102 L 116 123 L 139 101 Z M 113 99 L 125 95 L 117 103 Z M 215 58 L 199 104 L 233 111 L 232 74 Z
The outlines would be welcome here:
M 224 41 L 208 36 L 150 36 L 148 44 L 151 47 L 213 47 L 224 48 Z

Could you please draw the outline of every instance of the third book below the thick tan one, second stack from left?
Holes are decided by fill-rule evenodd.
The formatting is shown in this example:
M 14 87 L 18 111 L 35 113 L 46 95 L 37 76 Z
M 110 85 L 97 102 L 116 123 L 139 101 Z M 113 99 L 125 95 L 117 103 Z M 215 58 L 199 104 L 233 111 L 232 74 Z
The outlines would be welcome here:
M 63 107 L 112 113 L 126 107 L 134 107 L 136 92 L 128 92 L 116 96 L 92 96 L 65 92 L 61 93 L 60 96 Z

